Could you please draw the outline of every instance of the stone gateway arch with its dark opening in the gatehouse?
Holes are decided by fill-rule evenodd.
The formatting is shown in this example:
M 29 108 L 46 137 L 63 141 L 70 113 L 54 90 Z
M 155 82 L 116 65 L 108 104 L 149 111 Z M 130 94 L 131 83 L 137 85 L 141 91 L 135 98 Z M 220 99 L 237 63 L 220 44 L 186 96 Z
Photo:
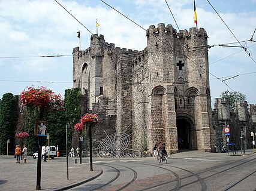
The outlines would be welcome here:
M 188 115 L 187 113 L 177 113 L 176 120 L 177 137 L 182 138 L 183 140 L 183 144 L 181 147 L 179 147 L 179 149 L 196 150 L 197 133 L 195 131 L 194 118 L 192 118 L 192 116 Z

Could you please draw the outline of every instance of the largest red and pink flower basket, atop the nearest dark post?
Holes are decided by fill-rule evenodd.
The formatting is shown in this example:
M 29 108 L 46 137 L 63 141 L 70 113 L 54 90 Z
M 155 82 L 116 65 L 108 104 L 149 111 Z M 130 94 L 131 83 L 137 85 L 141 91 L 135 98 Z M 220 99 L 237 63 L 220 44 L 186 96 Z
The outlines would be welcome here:
M 64 100 L 61 94 L 56 95 L 46 87 L 27 87 L 20 93 L 20 103 L 22 106 L 47 107 L 52 110 L 64 110 Z

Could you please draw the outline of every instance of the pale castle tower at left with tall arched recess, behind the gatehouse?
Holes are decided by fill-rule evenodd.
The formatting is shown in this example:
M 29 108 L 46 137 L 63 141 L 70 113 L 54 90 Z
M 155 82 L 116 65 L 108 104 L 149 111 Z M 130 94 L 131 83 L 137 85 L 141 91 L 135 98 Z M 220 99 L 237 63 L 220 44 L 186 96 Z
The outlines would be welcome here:
M 80 51 L 73 50 L 73 87 L 80 88 L 81 93 L 89 99 L 89 109 L 103 94 L 103 52 L 104 36 L 91 36 L 91 47 Z

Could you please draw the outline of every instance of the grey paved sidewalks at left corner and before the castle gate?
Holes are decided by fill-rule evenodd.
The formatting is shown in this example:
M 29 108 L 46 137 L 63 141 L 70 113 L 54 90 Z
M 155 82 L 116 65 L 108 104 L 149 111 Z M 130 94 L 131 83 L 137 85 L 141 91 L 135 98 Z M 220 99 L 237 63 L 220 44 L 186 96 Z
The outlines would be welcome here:
M 249 155 L 254 150 L 245 150 L 245 153 L 237 151 L 236 155 Z M 197 150 L 179 152 L 170 155 L 169 158 L 200 158 L 207 156 L 235 155 L 235 153 L 209 153 Z M 108 158 L 116 159 L 118 158 Z M 133 158 L 131 158 L 133 159 Z M 94 158 L 97 161 L 97 158 Z M 28 157 L 28 163 L 15 163 L 13 156 L 0 156 L 0 190 L 36 190 L 37 188 L 37 159 Z M 89 164 L 89 158 L 83 158 L 82 164 L 79 159 L 68 159 L 68 172 L 66 158 L 55 158 L 43 162 L 41 168 L 41 190 L 66 190 L 78 186 L 86 181 L 99 177 L 103 171 L 93 164 L 93 171 Z

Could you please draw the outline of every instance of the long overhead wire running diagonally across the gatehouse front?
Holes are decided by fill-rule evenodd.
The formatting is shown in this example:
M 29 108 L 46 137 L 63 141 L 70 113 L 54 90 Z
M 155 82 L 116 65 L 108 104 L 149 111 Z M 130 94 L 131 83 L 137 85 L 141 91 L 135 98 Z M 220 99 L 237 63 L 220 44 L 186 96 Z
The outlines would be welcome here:
M 56 0 L 55 0 L 56 1 Z M 140 27 L 141 29 L 145 30 L 147 32 L 146 29 L 144 29 L 142 26 L 140 26 L 140 24 L 135 23 L 135 21 L 129 19 L 127 16 L 125 16 L 124 14 L 122 14 L 120 11 L 116 10 L 115 8 L 113 8 L 111 5 L 107 4 L 106 2 L 104 2 L 103 0 L 100 0 L 101 2 L 103 2 L 104 4 L 106 4 L 107 6 L 109 6 L 110 8 L 112 8 L 113 10 L 115 10 L 116 12 L 118 12 L 119 14 L 121 14 L 122 16 L 124 16 L 125 18 L 127 18 L 129 21 L 131 21 L 132 23 L 134 23 L 135 25 L 137 25 L 138 27 Z M 150 33 L 150 32 L 149 32 Z M 168 47 L 172 48 L 174 51 L 177 51 L 174 47 L 171 47 L 169 44 L 167 44 L 167 42 L 162 41 L 162 39 L 158 38 L 157 36 L 155 36 L 153 33 L 150 33 L 150 35 L 154 36 L 156 39 L 158 39 L 159 41 L 163 42 L 165 45 L 167 45 Z M 199 64 L 195 63 L 195 61 L 191 60 L 190 58 L 188 58 L 187 56 L 185 56 L 184 54 L 180 53 L 182 56 L 186 57 L 188 60 L 192 61 L 192 63 L 194 63 L 195 65 L 197 65 L 198 67 L 200 67 L 201 69 L 205 70 L 207 73 L 209 73 L 210 75 L 214 76 L 215 78 L 218 78 L 217 76 L 213 75 L 212 73 L 210 73 L 209 70 L 204 69 L 204 67 L 201 67 Z M 221 81 L 221 79 L 219 79 L 219 81 Z M 222 81 L 221 81 L 222 82 Z M 225 82 L 222 82 L 223 84 L 227 85 Z M 234 91 L 231 87 L 229 87 L 227 85 L 228 88 L 230 88 L 230 90 Z

